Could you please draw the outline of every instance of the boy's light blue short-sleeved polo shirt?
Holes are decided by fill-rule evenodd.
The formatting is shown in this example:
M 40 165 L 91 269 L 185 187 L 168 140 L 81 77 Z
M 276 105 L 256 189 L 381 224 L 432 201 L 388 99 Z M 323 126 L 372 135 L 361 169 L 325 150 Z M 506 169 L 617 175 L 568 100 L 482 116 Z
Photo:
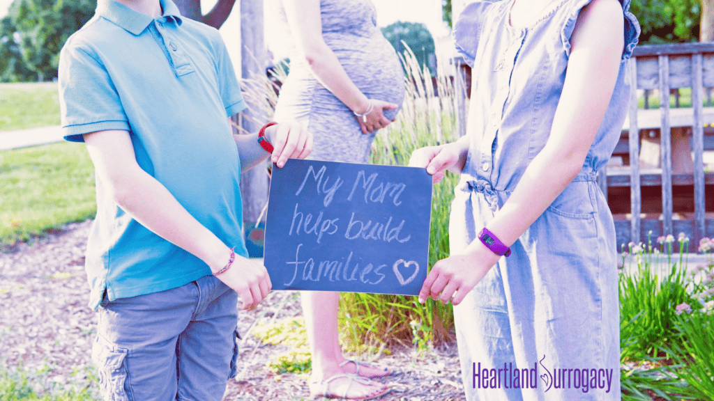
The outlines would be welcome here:
M 139 166 L 201 224 L 246 256 L 241 173 L 228 116 L 245 108 L 216 29 L 181 17 L 171 0 L 152 19 L 111 0 L 61 51 L 59 93 L 68 141 L 129 131 Z M 146 229 L 96 178 L 97 215 L 87 243 L 89 305 L 180 287 L 208 265 Z M 161 206 L 161 205 L 159 205 Z

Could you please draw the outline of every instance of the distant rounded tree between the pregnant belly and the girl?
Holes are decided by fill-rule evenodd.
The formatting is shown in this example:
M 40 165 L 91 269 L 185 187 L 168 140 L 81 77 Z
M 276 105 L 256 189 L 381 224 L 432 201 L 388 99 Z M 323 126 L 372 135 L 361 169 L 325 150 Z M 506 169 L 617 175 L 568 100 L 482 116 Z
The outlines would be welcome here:
M 382 34 L 394 47 L 397 54 L 403 54 L 405 49 L 401 42 L 404 41 L 414 52 L 421 68 L 426 64 L 432 75 L 436 72 L 434 39 L 424 24 L 396 21 L 382 28 Z

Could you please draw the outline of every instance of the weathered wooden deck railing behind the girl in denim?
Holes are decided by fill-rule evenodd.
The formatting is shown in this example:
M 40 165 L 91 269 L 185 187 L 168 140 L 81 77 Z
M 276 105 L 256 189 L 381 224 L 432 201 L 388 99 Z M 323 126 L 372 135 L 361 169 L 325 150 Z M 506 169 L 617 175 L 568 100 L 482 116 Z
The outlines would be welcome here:
M 468 96 L 471 69 L 459 57 L 453 59 L 453 63 L 456 88 Z M 714 150 L 711 99 L 714 43 L 638 46 L 629 74 L 631 82 L 636 84 L 628 118 L 614 152 L 628 159 L 629 166 L 603 168 L 598 173 L 600 188 L 608 196 L 615 215 L 618 245 L 646 242 L 650 231 L 653 240 L 659 235 L 685 233 L 691 241 L 689 251 L 696 251 L 701 238 L 714 235 L 714 214 L 706 212 L 714 211 L 714 172 L 705 172 L 703 161 L 704 151 Z M 692 88 L 691 107 L 670 107 L 670 91 L 680 88 Z M 638 108 L 638 93 L 643 91 L 645 102 L 648 93 L 658 91 L 659 108 Z M 676 94 L 675 106 L 680 106 L 679 93 Z M 707 106 L 704 106 L 705 97 Z M 458 131 L 463 135 L 466 131 L 463 98 L 457 96 L 456 108 Z M 638 134 L 630 135 L 632 132 Z M 640 168 L 640 144 L 644 140 L 651 145 L 657 137 L 660 139 L 657 166 Z M 661 208 L 656 204 L 660 199 Z M 684 211 L 675 213 L 675 204 Z M 712 218 L 707 218 L 708 214 Z

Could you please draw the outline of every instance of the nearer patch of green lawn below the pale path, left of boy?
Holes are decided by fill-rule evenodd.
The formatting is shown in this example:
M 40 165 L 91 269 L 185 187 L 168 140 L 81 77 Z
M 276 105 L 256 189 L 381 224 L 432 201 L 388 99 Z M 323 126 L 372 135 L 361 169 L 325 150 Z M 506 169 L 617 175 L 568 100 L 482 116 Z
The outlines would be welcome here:
M 94 166 L 84 144 L 0 151 L 0 245 L 95 214 Z

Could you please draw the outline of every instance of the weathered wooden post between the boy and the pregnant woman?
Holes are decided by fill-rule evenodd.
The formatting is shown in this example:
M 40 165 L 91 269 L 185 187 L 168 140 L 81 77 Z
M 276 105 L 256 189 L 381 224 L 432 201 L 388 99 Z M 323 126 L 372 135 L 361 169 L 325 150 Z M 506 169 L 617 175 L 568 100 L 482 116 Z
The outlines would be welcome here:
M 263 39 L 263 0 L 241 0 L 241 78 L 261 77 L 266 73 L 266 48 Z M 259 104 L 248 103 L 241 112 L 238 124 L 243 133 L 255 133 L 266 120 L 265 111 Z M 243 223 L 247 230 L 256 225 L 268 203 L 267 166 L 258 165 L 241 173 L 243 196 Z

